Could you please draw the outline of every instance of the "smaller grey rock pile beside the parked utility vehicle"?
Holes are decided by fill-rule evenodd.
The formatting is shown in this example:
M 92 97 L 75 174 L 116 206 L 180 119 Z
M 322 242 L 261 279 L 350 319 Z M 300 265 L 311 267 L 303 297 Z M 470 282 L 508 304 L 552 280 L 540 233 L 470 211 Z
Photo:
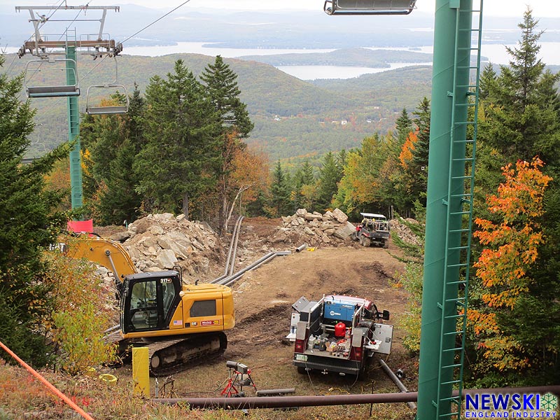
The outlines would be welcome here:
M 307 244 L 309 246 L 337 246 L 349 241 L 356 227 L 343 211 L 335 209 L 325 214 L 297 209 L 293 216 L 282 217 L 282 226 L 269 239 L 273 244 Z

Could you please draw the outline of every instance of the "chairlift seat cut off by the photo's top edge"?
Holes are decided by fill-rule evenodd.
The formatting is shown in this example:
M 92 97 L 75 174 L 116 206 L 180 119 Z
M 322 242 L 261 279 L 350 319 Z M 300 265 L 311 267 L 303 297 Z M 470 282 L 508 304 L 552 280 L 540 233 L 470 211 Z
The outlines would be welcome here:
M 416 0 L 326 0 L 328 15 L 408 15 Z

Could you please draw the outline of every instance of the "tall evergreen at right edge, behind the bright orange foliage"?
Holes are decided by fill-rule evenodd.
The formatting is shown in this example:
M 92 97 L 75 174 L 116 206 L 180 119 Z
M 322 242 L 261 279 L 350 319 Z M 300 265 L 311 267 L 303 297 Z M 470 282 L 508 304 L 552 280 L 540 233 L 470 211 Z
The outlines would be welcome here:
M 530 365 L 524 365 L 525 373 L 514 375 L 518 384 L 552 383 L 552 378 L 558 377 L 560 372 L 560 362 L 557 356 L 552 356 L 560 351 L 560 342 L 555 338 L 560 325 L 560 311 L 556 310 L 558 305 L 555 302 L 560 293 L 560 245 L 553 239 L 560 232 L 560 193 L 557 183 L 560 179 L 560 155 L 557 152 L 560 146 L 560 118 L 557 111 L 559 95 L 554 87 L 559 76 L 546 71 L 545 64 L 538 59 L 538 40 L 542 31 L 536 31 L 537 24 L 531 9 L 528 9 L 523 22 L 519 24 L 521 40 L 518 47 L 507 49 L 512 56 L 510 66 L 500 66 L 498 76 L 490 69 L 484 71 L 480 102 L 483 118 L 479 118 L 477 145 L 475 214 L 479 218 L 495 225 L 503 223 L 496 218 L 495 212 L 483 208 L 484 198 L 489 191 L 503 189 L 503 180 L 497 176 L 500 167 L 515 162 L 516 165 L 531 162 L 533 157 L 538 156 L 546 164 L 543 172 L 554 179 L 543 198 L 544 215 L 540 218 L 531 215 L 535 224 L 542 228 L 544 238 L 538 248 L 538 257 L 535 253 L 536 260 L 525 269 L 526 277 L 536 281 L 526 286 L 507 316 L 498 314 L 496 318 L 495 328 L 500 331 L 498 344 L 505 346 L 519 343 L 519 347 L 514 349 L 516 357 L 530 356 Z M 507 200 L 512 197 L 514 195 L 508 195 Z M 529 202 L 535 200 L 535 197 L 531 197 Z M 520 211 L 519 215 L 522 214 Z M 506 222 L 515 221 L 513 228 L 519 228 L 528 220 L 528 217 L 519 215 Z M 517 221 L 517 218 L 520 220 Z M 513 246 L 512 241 L 500 245 Z M 526 255 L 528 249 L 517 248 L 513 251 L 514 255 Z M 472 309 L 484 312 L 487 304 L 480 292 L 480 282 L 480 279 L 472 279 L 474 287 L 469 304 L 472 303 Z M 499 363 L 493 367 L 484 363 L 478 344 L 475 339 L 471 351 L 474 354 L 479 352 L 479 360 L 482 365 L 486 364 L 484 369 L 489 372 L 499 370 L 496 367 L 500 366 Z M 512 384 L 510 379 L 513 379 L 503 372 L 488 374 L 488 377 L 492 384 Z

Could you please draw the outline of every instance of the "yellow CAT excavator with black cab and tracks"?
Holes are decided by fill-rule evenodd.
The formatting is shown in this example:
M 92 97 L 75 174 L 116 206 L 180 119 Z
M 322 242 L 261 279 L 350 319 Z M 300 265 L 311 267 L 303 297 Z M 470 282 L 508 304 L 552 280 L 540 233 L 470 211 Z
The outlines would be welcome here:
M 183 284 L 181 269 L 138 273 L 125 248 L 111 239 L 82 234 L 66 242 L 66 255 L 103 265 L 115 276 L 120 328 L 107 339 L 120 354 L 147 346 L 150 370 L 158 376 L 225 350 L 224 331 L 235 326 L 231 288 Z

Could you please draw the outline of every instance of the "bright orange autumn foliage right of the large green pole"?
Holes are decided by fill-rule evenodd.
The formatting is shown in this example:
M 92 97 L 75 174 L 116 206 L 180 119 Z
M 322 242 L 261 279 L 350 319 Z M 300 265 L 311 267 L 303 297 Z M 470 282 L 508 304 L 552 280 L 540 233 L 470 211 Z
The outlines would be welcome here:
M 542 198 L 552 178 L 543 174 L 544 163 L 519 160 L 503 167 L 505 181 L 497 195 L 486 197 L 486 204 L 500 223 L 476 218 L 474 233 L 486 246 L 474 267 L 482 281 L 484 309 L 469 309 L 468 320 L 479 337 L 482 355 L 498 370 L 521 370 L 530 366 L 524 347 L 512 335 L 505 335 L 498 314 L 507 316 L 521 295 L 527 293 L 533 279 L 527 275 L 544 242 L 538 218 L 542 216 Z

